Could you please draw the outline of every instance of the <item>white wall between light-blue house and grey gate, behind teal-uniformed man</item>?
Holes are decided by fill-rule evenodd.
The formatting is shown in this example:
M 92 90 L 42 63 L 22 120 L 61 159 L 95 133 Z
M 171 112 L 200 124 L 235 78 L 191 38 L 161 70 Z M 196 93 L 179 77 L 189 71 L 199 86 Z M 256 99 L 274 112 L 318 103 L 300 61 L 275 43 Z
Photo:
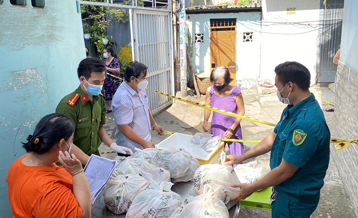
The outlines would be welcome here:
M 298 61 L 311 72 L 311 84 L 316 82 L 319 5 L 320 0 L 262 0 L 261 78 L 274 80 L 278 64 Z M 287 7 L 296 7 L 296 15 L 287 15 Z

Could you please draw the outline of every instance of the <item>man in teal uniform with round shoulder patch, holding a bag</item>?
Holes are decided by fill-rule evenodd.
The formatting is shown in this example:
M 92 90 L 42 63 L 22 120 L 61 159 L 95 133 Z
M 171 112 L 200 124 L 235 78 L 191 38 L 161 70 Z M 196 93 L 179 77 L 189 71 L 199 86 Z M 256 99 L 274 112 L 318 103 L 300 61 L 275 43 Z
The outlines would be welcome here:
M 253 184 L 233 184 L 240 187 L 233 200 L 273 186 L 273 218 L 309 218 L 317 208 L 328 168 L 331 135 L 322 109 L 309 91 L 308 69 L 297 62 L 285 62 L 275 72 L 278 99 L 288 104 L 280 121 L 254 148 L 240 156 L 228 155 L 225 162 L 239 164 L 271 151 L 271 171 Z

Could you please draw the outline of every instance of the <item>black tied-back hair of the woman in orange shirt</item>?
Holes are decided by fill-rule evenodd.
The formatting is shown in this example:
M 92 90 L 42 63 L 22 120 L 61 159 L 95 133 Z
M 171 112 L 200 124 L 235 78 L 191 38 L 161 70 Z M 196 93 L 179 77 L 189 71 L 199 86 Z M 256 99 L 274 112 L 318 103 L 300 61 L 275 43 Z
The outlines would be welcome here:
M 36 125 L 33 136 L 39 142 L 22 143 L 26 152 L 43 154 L 49 151 L 61 139 L 68 140 L 75 132 L 76 125 L 68 117 L 60 113 L 51 113 L 44 116 Z

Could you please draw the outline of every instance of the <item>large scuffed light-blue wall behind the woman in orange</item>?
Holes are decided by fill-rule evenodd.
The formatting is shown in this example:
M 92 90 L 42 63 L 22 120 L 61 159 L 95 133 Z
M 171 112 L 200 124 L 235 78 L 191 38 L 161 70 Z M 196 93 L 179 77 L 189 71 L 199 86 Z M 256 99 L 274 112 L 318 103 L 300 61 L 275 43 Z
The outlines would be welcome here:
M 25 154 L 20 142 L 41 117 L 79 84 L 85 57 L 76 0 L 45 0 L 44 8 L 0 4 L 0 217 L 12 217 L 7 170 Z

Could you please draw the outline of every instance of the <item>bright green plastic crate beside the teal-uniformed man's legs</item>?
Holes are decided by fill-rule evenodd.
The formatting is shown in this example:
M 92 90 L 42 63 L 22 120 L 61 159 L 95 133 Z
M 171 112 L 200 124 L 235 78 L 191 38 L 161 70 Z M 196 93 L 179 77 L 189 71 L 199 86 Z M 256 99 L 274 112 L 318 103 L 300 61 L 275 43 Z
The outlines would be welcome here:
M 265 188 L 259 192 L 254 192 L 250 197 L 245 200 L 240 200 L 242 207 L 251 207 L 264 210 L 271 210 L 271 203 L 269 203 L 272 193 L 272 187 Z

